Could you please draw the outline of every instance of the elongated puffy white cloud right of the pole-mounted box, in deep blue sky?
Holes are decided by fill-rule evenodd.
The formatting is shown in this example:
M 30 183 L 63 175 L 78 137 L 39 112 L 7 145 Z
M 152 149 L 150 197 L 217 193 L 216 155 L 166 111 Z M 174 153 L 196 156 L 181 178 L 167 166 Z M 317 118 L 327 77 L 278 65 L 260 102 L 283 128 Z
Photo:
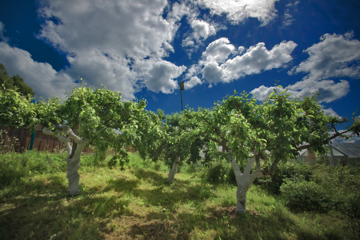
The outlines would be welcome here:
M 292 60 L 290 54 L 296 46 L 293 41 L 283 41 L 271 50 L 267 50 L 264 43 L 258 43 L 245 50 L 243 46 L 236 48 L 227 38 L 222 37 L 208 45 L 201 61 L 190 68 L 192 72 L 186 77 L 201 73 L 202 78 L 211 85 L 219 82 L 229 83 L 245 75 L 282 67 Z

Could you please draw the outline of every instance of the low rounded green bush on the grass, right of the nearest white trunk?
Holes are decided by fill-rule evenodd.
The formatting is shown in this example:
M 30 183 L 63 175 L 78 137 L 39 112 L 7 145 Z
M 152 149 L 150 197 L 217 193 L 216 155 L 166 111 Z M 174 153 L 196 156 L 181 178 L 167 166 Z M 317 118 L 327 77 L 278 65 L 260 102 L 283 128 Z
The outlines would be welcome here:
M 291 181 L 280 187 L 285 205 L 292 210 L 327 212 L 332 207 L 332 198 L 315 182 Z

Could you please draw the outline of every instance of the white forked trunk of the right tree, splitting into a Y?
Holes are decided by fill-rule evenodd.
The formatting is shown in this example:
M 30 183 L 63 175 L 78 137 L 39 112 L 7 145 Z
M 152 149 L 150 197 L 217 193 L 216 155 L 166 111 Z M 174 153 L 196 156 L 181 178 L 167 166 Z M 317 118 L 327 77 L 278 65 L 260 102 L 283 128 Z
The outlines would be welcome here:
M 245 213 L 246 212 L 246 194 L 249 190 L 251 184 L 254 182 L 255 178 L 262 176 L 263 169 L 257 169 L 254 172 L 251 172 L 251 168 L 255 163 L 255 158 L 249 158 L 244 169 L 244 173 L 240 172 L 239 164 L 236 162 L 235 158 L 231 159 L 231 165 L 235 173 L 236 182 L 238 185 L 236 191 L 236 212 Z

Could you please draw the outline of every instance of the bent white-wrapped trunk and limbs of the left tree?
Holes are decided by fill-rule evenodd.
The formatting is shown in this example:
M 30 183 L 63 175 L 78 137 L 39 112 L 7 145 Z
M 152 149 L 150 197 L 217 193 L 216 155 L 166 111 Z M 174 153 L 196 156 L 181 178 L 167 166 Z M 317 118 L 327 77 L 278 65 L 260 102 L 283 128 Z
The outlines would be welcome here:
M 60 125 L 56 126 L 55 130 L 59 133 L 67 134 L 76 143 L 75 151 L 72 151 L 73 149 L 69 143 L 70 139 L 64 137 L 63 135 L 61 135 L 59 133 L 57 134 L 57 137 L 59 138 L 59 140 L 66 144 L 66 148 L 67 148 L 67 152 L 68 152 L 67 158 L 64 159 L 64 161 L 67 162 L 66 168 L 68 170 L 68 172 L 66 174 L 66 178 L 69 180 L 68 192 L 71 195 L 77 195 L 80 192 L 79 191 L 80 174 L 78 174 L 77 170 L 80 168 L 80 156 L 81 156 L 82 149 L 86 145 L 86 139 L 79 138 L 77 135 L 75 135 L 73 133 L 71 128 L 66 125 L 60 124 Z M 42 132 L 44 134 L 48 134 L 48 135 L 54 134 L 48 128 L 43 128 Z

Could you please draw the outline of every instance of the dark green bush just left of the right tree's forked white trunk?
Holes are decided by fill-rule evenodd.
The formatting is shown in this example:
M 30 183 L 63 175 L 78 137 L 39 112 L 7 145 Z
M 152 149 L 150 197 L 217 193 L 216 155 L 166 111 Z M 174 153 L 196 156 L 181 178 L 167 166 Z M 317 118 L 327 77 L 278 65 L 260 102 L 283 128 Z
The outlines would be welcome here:
M 225 159 L 208 162 L 200 169 L 198 174 L 203 181 L 210 183 L 236 182 L 234 170 Z

